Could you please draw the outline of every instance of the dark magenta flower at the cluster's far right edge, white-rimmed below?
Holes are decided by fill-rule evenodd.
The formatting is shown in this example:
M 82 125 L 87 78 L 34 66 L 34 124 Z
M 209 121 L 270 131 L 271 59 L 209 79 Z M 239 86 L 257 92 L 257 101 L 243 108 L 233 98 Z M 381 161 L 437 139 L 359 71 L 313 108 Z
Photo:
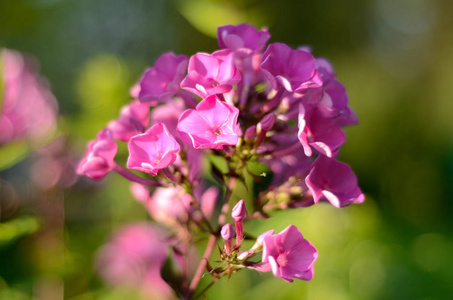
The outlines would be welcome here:
M 335 207 L 345 207 L 365 200 L 351 167 L 334 158 L 320 155 L 311 166 L 305 182 L 315 203 L 325 197 Z

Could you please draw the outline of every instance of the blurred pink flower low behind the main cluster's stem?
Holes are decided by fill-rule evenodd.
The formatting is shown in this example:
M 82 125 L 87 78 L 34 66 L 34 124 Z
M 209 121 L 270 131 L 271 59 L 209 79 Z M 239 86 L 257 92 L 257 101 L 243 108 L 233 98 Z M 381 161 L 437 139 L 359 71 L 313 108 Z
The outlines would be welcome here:
M 160 275 L 167 255 L 163 232 L 151 223 L 135 223 L 114 233 L 96 265 L 111 285 L 136 287 L 150 299 L 169 299 L 173 291 Z

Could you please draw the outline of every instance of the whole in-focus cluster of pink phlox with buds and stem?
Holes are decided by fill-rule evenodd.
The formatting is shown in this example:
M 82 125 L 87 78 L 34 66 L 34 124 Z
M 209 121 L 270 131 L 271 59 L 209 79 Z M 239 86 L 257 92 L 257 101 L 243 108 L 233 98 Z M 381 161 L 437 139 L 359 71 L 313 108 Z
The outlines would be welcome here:
M 357 118 L 331 64 L 306 48 L 268 45 L 269 39 L 266 29 L 228 25 L 218 29 L 218 51 L 162 55 L 79 164 L 81 175 L 101 179 L 115 171 L 133 182 L 133 194 L 168 226 L 177 241 L 172 247 L 186 259 L 197 234 L 210 236 L 195 273 L 181 271 L 183 283 L 172 285 L 180 296 L 193 294 L 206 269 L 215 279 L 245 267 L 290 282 L 312 278 L 317 251 L 293 225 L 262 234 L 249 251 L 240 249 L 243 200 L 232 209 L 234 227 L 226 224 L 237 182 L 261 183 L 257 196 L 240 197 L 250 204 L 247 219 L 322 201 L 335 207 L 364 201 L 355 174 L 336 159 L 345 142 L 342 127 Z M 128 143 L 127 168 L 115 161 L 116 141 Z M 252 163 L 268 168 L 270 182 Z M 208 187 L 203 164 L 217 187 Z M 212 269 L 207 260 L 220 237 L 226 264 Z M 261 250 L 260 263 L 248 260 Z

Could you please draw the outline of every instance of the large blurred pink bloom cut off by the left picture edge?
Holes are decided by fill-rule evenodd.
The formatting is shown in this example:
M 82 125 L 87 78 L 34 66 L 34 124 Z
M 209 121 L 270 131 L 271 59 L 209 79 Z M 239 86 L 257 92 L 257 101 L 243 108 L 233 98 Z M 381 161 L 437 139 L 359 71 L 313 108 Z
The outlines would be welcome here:
M 56 129 L 58 105 L 37 62 L 19 52 L 0 51 L 0 145 L 26 138 L 42 143 Z

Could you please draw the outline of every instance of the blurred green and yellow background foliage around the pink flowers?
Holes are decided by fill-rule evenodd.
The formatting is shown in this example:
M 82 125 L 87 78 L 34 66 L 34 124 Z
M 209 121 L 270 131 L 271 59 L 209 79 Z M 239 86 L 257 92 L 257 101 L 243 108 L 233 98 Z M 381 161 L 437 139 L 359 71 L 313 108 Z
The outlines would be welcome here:
M 209 298 L 448 299 L 452 11 L 447 0 L 0 0 L 0 47 L 38 58 L 60 105 L 60 134 L 77 159 L 163 52 L 215 51 L 216 28 L 241 22 L 267 26 L 271 42 L 310 45 L 333 63 L 359 117 L 346 129 L 340 159 L 367 200 L 247 224 L 258 234 L 280 231 L 291 218 L 318 248 L 314 279 L 288 284 L 243 271 L 222 279 Z M 115 228 L 147 218 L 127 182 L 113 174 L 36 192 L 27 190 L 29 163 L 0 171 L 0 299 L 128 299 L 103 286 L 93 268 Z

